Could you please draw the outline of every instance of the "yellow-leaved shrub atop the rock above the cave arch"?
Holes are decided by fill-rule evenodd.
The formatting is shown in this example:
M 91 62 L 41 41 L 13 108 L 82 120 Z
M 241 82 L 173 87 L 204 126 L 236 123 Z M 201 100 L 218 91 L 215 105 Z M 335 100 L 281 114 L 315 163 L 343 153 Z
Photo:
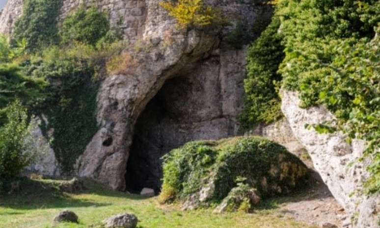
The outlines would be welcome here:
M 160 5 L 177 20 L 179 28 L 204 27 L 223 23 L 220 12 L 205 6 L 202 0 L 179 0 L 177 3 L 160 2 Z

